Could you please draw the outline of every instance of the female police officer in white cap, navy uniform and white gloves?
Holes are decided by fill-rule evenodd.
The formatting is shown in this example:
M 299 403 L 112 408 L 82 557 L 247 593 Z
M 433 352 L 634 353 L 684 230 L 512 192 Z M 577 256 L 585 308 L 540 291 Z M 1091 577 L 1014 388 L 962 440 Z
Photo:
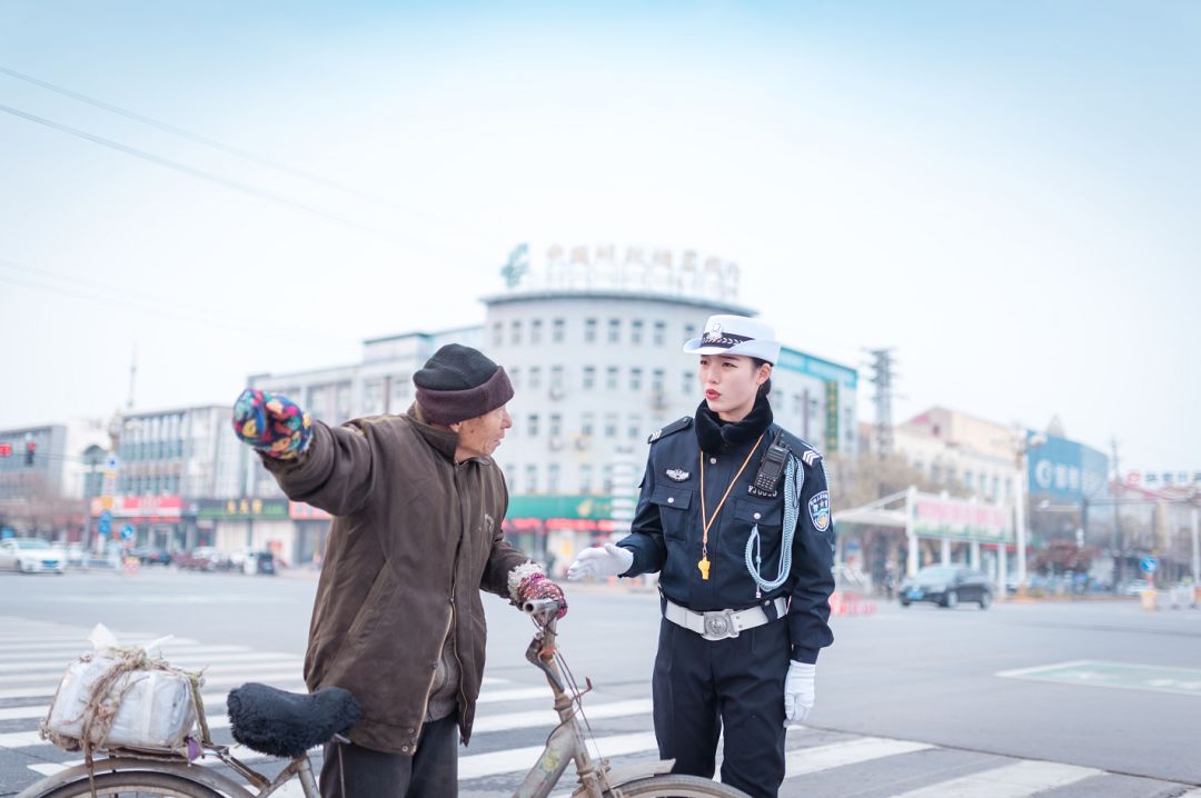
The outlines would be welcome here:
M 568 578 L 659 571 L 655 733 L 676 773 L 775 796 L 784 734 L 813 706 L 818 650 L 833 641 L 830 494 L 821 456 L 772 424 L 779 343 L 770 326 L 712 316 L 700 338 L 705 398 L 651 436 L 631 534 L 591 548 Z

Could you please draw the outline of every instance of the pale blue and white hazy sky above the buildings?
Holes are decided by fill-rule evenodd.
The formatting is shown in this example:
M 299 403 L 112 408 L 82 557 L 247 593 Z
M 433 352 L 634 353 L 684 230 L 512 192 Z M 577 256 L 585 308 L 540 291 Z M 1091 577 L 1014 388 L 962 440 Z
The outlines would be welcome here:
M 1199 67 L 1189 1 L 0 0 L 0 427 L 108 416 L 133 358 L 139 408 L 232 402 L 615 244 L 892 347 L 896 419 L 1196 470 Z

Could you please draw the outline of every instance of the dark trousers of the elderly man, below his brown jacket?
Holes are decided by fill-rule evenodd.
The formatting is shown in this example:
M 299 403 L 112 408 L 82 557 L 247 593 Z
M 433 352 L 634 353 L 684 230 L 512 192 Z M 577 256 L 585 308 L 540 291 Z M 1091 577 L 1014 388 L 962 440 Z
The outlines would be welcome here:
M 353 743 L 327 743 L 319 781 L 322 798 L 458 796 L 459 721 L 455 713 L 422 727 L 413 756 L 372 751 Z

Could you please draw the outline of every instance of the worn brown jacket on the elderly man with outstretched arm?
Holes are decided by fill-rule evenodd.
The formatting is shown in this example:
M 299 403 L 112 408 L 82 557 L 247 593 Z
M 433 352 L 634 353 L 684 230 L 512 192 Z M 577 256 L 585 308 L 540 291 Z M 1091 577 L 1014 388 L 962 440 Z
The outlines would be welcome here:
M 298 460 L 264 457 L 288 498 L 334 516 L 309 629 L 305 682 L 363 706 L 351 739 L 412 754 L 443 641 L 454 628 L 459 728 L 471 738 L 484 673 L 480 589 L 508 598 L 527 557 L 504 541 L 508 492 L 478 457 L 455 464 L 458 436 L 407 415 L 313 422 Z

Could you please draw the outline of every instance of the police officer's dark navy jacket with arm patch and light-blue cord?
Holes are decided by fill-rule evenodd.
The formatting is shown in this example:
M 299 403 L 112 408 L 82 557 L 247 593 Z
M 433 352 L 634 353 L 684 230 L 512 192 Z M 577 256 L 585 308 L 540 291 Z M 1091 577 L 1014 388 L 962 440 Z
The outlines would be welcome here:
M 770 410 L 767 413 L 770 418 Z M 719 454 L 704 452 L 705 510 L 710 516 L 749 455 L 749 462 L 710 527 L 710 570 L 709 578 L 704 580 L 698 568 L 704 529 L 700 502 L 703 452 L 694 426 L 692 416 L 685 416 L 651 436 L 651 451 L 631 534 L 617 544 L 634 554 L 633 564 L 622 576 L 659 571 L 663 594 L 697 612 L 745 610 L 788 596 L 793 659 L 815 662 L 818 650 L 833 642 L 827 623 L 833 590 L 833 522 L 821 456 L 784 431 L 783 443 L 805 475 L 793 539 L 793 562 L 781 587 L 771 592 L 760 590 L 757 596 L 757 584 L 746 565 L 747 540 L 752 528 L 758 526 L 760 576 L 769 582 L 776 581 L 784 521 L 783 478 L 773 498 L 757 496 L 748 488 L 779 427 L 770 424 L 758 445 L 751 440 L 728 446 Z M 754 556 L 752 548 L 752 563 Z

